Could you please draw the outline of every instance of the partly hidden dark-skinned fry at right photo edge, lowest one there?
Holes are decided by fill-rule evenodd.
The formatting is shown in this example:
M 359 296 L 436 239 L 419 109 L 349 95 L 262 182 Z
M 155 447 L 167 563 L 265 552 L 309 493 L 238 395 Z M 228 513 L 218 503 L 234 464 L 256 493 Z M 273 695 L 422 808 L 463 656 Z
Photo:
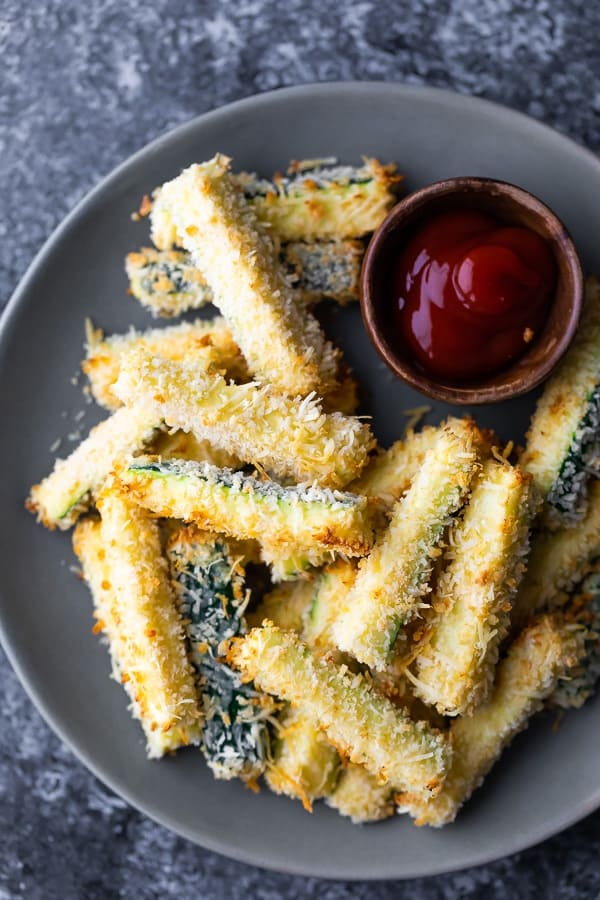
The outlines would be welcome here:
M 569 597 L 565 617 L 585 629 L 585 652 L 579 665 L 559 680 L 548 702 L 563 709 L 579 709 L 592 696 L 600 678 L 600 558 Z

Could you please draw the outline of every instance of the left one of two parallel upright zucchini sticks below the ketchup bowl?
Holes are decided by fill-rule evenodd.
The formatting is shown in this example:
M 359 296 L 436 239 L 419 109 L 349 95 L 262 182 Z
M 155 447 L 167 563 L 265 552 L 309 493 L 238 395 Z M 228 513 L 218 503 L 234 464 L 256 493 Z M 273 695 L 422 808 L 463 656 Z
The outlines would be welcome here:
M 400 629 L 423 603 L 433 559 L 441 552 L 437 545 L 476 468 L 476 441 L 468 430 L 440 429 L 389 528 L 359 566 L 333 628 L 340 650 L 373 669 L 387 667 Z

